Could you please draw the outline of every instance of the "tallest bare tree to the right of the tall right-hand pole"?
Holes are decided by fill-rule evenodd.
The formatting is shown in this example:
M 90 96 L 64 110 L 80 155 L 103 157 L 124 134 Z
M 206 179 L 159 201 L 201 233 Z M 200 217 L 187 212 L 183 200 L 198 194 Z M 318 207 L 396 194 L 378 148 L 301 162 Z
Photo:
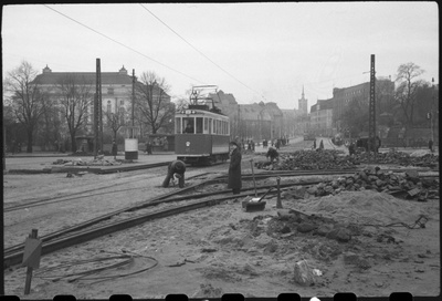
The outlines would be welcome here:
M 413 125 L 414 106 L 417 103 L 417 92 L 424 84 L 421 80 L 415 80 L 424 71 L 414 63 L 401 64 L 398 68 L 396 82 L 396 98 L 400 104 L 401 113 L 406 124 L 406 131 Z

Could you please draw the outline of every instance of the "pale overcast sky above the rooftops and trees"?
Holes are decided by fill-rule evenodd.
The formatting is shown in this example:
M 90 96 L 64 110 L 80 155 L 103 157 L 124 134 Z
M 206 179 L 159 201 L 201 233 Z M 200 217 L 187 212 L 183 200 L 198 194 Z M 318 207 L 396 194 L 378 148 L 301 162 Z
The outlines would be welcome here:
M 172 97 L 213 84 L 241 104 L 297 108 L 333 87 L 396 77 L 413 62 L 439 83 L 436 2 L 25 4 L 3 7 L 6 72 L 25 60 L 39 72 L 154 71 Z

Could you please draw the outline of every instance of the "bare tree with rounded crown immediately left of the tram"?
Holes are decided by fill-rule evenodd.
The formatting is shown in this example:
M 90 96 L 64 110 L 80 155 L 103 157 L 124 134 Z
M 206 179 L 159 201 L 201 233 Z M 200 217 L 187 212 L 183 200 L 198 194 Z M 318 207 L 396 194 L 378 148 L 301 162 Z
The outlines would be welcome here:
M 175 105 L 167 92 L 170 86 L 165 79 L 155 72 L 144 72 L 136 85 L 136 106 L 139 110 L 141 123 L 157 134 L 161 127 L 167 127 L 173 121 Z

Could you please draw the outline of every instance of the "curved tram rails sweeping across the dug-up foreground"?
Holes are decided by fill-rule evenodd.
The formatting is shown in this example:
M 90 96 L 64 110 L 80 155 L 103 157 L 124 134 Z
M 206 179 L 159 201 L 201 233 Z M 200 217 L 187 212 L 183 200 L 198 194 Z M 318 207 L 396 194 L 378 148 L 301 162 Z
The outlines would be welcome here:
M 254 175 L 255 178 L 269 178 L 269 177 L 296 177 L 296 176 L 324 176 L 324 175 L 345 175 L 345 174 L 354 174 L 355 172 L 360 170 L 360 169 L 351 169 L 351 170 L 323 170 L 318 173 L 317 170 L 297 170 L 297 172 L 263 172 L 263 173 L 257 173 Z M 404 172 L 403 169 L 399 169 L 400 172 Z M 428 170 L 424 170 L 428 172 Z M 201 175 L 197 175 L 201 176 Z M 196 177 L 197 177 L 196 176 Z M 243 175 L 243 179 L 248 180 L 251 179 L 253 175 Z M 82 243 L 95 238 L 99 238 L 102 236 L 109 235 L 115 231 L 120 231 L 130 227 L 135 227 L 138 225 L 141 225 L 146 221 L 154 220 L 157 218 L 161 217 L 167 217 L 167 216 L 172 216 L 172 215 L 178 215 L 180 212 L 186 212 L 189 210 L 194 210 L 208 206 L 214 206 L 218 205 L 222 201 L 232 199 L 232 198 L 242 198 L 250 193 L 246 193 L 249 190 L 252 190 L 253 187 L 248 187 L 243 188 L 240 195 L 231 195 L 231 190 L 219 190 L 219 191 L 210 191 L 206 194 L 190 194 L 190 195 L 182 195 L 186 193 L 190 193 L 191 190 L 197 190 L 199 187 L 203 187 L 210 184 L 217 184 L 220 181 L 225 181 L 227 176 L 219 176 L 213 179 L 204 180 L 200 184 L 192 185 L 186 188 L 182 188 L 177 191 L 172 191 L 169 194 L 165 194 L 148 200 L 144 200 L 140 204 L 137 204 L 135 206 L 129 206 L 113 212 L 109 212 L 107 215 L 96 217 L 94 219 L 87 220 L 85 222 L 75 225 L 70 228 L 65 228 L 63 230 L 59 230 L 52 233 L 49 233 L 46 236 L 40 237 L 40 239 L 43 241 L 43 247 L 42 247 L 42 255 L 46 255 L 63 248 L 67 248 L 77 243 Z M 305 180 L 305 181 L 299 181 L 299 183 L 286 183 L 286 184 L 281 184 L 280 188 L 285 188 L 288 186 L 294 186 L 294 185 L 314 185 L 319 183 L 320 180 Z M 263 195 L 269 188 L 275 187 L 276 183 L 274 185 L 263 185 L 256 187 L 256 196 Z M 272 191 L 275 194 L 276 191 Z M 225 196 L 225 194 L 229 194 Z M 223 195 L 220 197 L 213 197 L 215 195 Z M 203 200 L 194 200 L 199 198 L 206 198 L 210 197 L 210 199 L 203 199 Z M 134 214 L 135 211 L 141 211 L 147 208 L 151 208 L 158 205 L 164 205 L 168 203 L 179 203 L 179 201 L 185 201 L 188 200 L 189 203 L 185 205 L 171 205 L 168 208 L 162 208 L 158 210 L 150 210 L 148 212 L 141 212 L 139 215 Z M 120 220 L 113 220 L 116 216 L 122 215 L 123 212 L 130 212 L 136 216 L 123 218 Z M 106 222 L 107 221 L 107 222 Z M 3 267 L 8 268 L 14 264 L 18 264 L 21 262 L 22 257 L 23 257 L 23 245 L 18 245 L 13 246 L 10 248 L 7 248 L 4 250 L 4 259 L 3 259 Z

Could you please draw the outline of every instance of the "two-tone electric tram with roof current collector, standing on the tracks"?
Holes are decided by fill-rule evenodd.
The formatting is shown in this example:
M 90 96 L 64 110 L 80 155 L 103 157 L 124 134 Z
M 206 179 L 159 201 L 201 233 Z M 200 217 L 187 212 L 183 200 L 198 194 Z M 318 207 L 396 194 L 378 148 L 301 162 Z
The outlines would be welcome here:
M 193 86 L 188 107 L 175 114 L 175 153 L 177 159 L 191 165 L 210 165 L 229 158 L 229 116 Z M 211 101 L 211 107 L 210 107 Z

